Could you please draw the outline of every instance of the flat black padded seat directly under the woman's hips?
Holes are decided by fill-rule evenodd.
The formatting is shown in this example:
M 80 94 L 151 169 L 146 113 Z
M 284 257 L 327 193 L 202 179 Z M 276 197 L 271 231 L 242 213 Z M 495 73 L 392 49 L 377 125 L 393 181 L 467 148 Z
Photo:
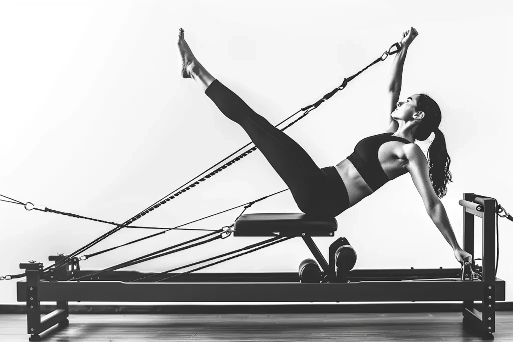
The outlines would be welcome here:
M 246 214 L 235 222 L 233 236 L 333 236 L 337 230 L 334 217 L 303 213 Z M 330 235 L 331 233 L 331 235 Z

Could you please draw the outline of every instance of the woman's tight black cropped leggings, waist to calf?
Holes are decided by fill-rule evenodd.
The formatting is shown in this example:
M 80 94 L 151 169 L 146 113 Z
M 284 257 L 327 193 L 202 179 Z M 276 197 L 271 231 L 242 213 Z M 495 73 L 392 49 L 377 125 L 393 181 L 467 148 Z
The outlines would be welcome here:
M 320 169 L 287 134 L 255 113 L 217 79 L 205 91 L 226 117 L 238 123 L 284 180 L 305 214 L 335 217 L 349 207 L 349 197 L 337 169 Z

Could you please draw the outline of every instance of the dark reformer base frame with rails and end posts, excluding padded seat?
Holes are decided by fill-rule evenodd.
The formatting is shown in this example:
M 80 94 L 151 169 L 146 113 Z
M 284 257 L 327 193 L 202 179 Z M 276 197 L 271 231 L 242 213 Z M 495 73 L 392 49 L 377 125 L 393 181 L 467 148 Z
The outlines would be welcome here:
M 27 304 L 27 333 L 30 341 L 54 325 L 68 325 L 69 301 L 144 302 L 351 302 L 351 301 L 463 301 L 464 327 L 472 333 L 493 338 L 495 303 L 505 300 L 505 281 L 495 277 L 495 238 L 497 201 L 465 193 L 463 207 L 463 249 L 474 254 L 474 217 L 482 218 L 482 279 L 463 281 L 466 269 L 351 270 L 344 283 L 300 283 L 297 272 L 285 273 L 191 273 L 162 283 L 127 283 L 142 276 L 154 280 L 172 276 L 137 271 L 111 271 L 91 274 L 80 270 L 78 259 L 50 269 L 42 277 L 43 264 L 20 264 L 26 280 L 17 283 L 17 300 Z M 303 236 L 319 265 L 328 263 L 309 236 Z M 314 252 L 314 251 L 316 251 Z M 60 261 L 64 255 L 50 256 Z M 324 267 L 323 267 L 324 269 Z M 468 271 L 468 270 L 467 270 Z M 57 309 L 41 318 L 41 301 L 55 301 Z M 482 302 L 482 311 L 474 306 Z

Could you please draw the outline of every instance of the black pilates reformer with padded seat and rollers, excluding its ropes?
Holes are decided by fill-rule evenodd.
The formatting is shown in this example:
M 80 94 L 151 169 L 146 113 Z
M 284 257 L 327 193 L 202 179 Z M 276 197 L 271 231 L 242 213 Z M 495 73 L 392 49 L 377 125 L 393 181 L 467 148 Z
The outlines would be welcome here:
M 462 269 L 353 269 L 356 252 L 345 238 L 329 247 L 326 260 L 312 237 L 333 237 L 337 220 L 305 214 L 246 214 L 236 220 L 234 236 L 272 237 L 271 242 L 301 237 L 314 259 L 305 259 L 291 273 L 141 273 L 81 270 L 72 259 L 43 274 L 43 264 L 24 263 L 26 280 L 17 283 L 17 300 L 27 304 L 30 341 L 43 331 L 68 324 L 69 301 L 144 302 L 352 302 L 463 301 L 463 321 L 469 331 L 492 338 L 496 301 L 505 300 L 505 281 L 495 276 L 497 200 L 464 194 L 463 249 L 474 253 L 474 216 L 482 219 L 482 267 Z M 269 244 L 268 243 L 268 244 Z M 64 255 L 52 255 L 60 261 Z M 93 275 L 91 275 L 93 274 Z M 135 282 L 151 278 L 157 283 Z M 80 279 L 80 281 L 73 281 Z M 41 318 L 40 301 L 55 301 L 57 309 Z M 482 311 L 474 302 L 482 303 Z

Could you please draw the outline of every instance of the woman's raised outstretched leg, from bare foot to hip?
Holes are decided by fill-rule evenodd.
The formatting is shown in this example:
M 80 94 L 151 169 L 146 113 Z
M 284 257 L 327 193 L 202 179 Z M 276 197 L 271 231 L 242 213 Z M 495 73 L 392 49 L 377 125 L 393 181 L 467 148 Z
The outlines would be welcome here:
M 238 95 L 215 79 L 194 57 L 180 29 L 178 47 L 182 76 L 198 83 L 216 106 L 238 123 L 289 187 L 299 208 L 317 211 L 319 196 L 327 191 L 325 176 L 308 153 L 287 134 L 255 113 Z

